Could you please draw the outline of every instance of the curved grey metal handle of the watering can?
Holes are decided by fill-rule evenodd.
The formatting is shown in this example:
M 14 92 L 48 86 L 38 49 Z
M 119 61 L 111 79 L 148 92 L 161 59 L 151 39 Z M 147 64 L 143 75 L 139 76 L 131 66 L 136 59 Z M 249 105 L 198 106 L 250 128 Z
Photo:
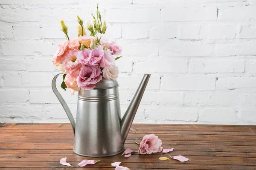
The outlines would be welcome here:
M 63 74 L 63 73 L 60 73 L 60 74 Z M 64 111 L 67 113 L 67 117 L 68 119 L 70 120 L 70 123 L 72 125 L 72 128 L 73 128 L 73 132 L 75 134 L 75 129 L 76 129 L 76 123 L 75 123 L 75 120 L 74 120 L 74 117 L 70 111 L 70 109 L 68 108 L 67 106 L 67 103 L 65 102 L 65 100 L 63 99 L 63 97 L 61 96 L 60 92 L 57 90 L 56 88 L 56 79 L 58 77 L 58 75 L 60 74 L 57 74 L 55 77 L 53 77 L 52 79 L 52 91 L 53 93 L 55 94 L 55 96 L 58 98 L 58 100 L 61 102 L 61 105 L 62 107 L 64 108 Z

